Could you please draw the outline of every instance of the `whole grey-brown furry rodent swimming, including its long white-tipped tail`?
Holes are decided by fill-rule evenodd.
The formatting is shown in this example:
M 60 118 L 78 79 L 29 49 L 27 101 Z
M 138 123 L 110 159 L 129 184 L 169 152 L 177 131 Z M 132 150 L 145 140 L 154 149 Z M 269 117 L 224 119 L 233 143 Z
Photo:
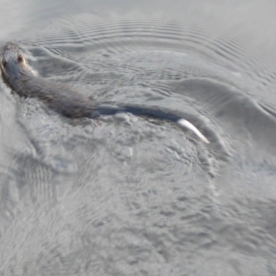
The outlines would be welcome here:
M 101 115 L 129 112 L 139 117 L 172 121 L 180 128 L 192 130 L 202 141 L 209 143 L 208 139 L 193 124 L 170 112 L 135 105 L 106 106 L 97 104 L 66 84 L 38 77 L 32 72 L 26 57 L 15 43 L 7 43 L 4 46 L 1 71 L 3 79 L 19 96 L 38 98 L 66 117 L 95 119 Z

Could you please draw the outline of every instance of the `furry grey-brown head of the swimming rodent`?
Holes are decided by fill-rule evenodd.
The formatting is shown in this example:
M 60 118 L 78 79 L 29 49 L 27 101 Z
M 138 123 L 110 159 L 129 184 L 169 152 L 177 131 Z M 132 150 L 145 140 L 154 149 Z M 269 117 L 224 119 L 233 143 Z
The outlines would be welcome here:
M 26 57 L 14 43 L 7 43 L 3 48 L 1 72 L 3 79 L 11 87 L 14 80 L 19 79 L 19 77 L 26 75 L 26 72 L 28 72 Z

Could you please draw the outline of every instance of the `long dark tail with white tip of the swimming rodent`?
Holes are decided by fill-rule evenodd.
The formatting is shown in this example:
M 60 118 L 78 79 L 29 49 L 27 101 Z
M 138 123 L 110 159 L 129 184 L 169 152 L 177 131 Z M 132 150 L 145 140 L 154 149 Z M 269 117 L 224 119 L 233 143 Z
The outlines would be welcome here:
M 208 139 L 196 128 L 193 124 L 191 124 L 186 119 L 183 119 L 177 115 L 174 115 L 170 112 L 165 112 L 159 109 L 154 108 L 143 108 L 139 106 L 108 106 L 108 105 L 100 105 L 97 107 L 97 110 L 92 111 L 90 114 L 90 118 L 99 117 L 101 115 L 115 115 L 119 112 L 131 113 L 132 115 L 139 117 L 150 117 L 156 119 L 163 119 L 167 121 L 172 121 L 181 129 L 192 130 L 197 137 L 199 137 L 202 141 L 209 144 Z

